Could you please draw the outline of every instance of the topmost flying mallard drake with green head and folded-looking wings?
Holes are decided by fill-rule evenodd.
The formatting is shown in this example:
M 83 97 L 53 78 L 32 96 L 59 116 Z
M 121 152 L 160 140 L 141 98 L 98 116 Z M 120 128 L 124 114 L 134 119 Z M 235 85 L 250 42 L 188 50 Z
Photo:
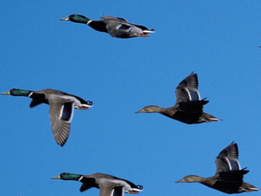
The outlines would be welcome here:
M 148 34 L 155 30 L 148 30 L 147 27 L 131 24 L 124 18 L 113 16 L 102 16 L 101 20 L 91 20 L 83 15 L 72 14 L 62 21 L 72 21 L 74 23 L 83 23 L 89 25 L 96 31 L 110 34 L 116 38 L 150 37 Z

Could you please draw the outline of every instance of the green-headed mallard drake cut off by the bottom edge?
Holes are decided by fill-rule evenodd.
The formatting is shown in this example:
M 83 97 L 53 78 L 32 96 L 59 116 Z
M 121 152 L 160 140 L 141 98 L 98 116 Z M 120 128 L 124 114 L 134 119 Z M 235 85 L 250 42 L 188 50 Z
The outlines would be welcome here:
M 79 181 L 83 183 L 80 192 L 86 191 L 92 187 L 99 188 L 99 196 L 123 196 L 124 192 L 138 194 L 143 188 L 141 185 L 135 185 L 128 180 L 105 173 L 93 173 L 91 175 L 61 173 L 52 179 Z

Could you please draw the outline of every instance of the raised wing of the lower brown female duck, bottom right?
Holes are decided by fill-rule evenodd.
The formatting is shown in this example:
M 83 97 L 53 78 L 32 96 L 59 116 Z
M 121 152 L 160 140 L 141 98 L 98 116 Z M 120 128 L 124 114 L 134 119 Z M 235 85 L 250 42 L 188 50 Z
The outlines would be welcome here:
M 238 145 L 234 141 L 224 148 L 215 159 L 217 170 L 216 173 L 240 170 L 238 162 Z

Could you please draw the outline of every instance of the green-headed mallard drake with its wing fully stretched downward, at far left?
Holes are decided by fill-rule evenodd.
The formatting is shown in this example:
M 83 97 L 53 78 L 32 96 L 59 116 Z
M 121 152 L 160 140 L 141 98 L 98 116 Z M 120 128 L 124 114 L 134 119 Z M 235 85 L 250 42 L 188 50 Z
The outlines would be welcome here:
M 53 136 L 57 144 L 63 146 L 68 139 L 71 121 L 73 118 L 73 108 L 78 110 L 88 110 L 92 107 L 92 101 L 84 101 L 82 98 L 59 90 L 43 89 L 39 91 L 11 89 L 1 95 L 25 96 L 33 100 L 30 108 L 41 103 L 50 105 L 49 117 Z

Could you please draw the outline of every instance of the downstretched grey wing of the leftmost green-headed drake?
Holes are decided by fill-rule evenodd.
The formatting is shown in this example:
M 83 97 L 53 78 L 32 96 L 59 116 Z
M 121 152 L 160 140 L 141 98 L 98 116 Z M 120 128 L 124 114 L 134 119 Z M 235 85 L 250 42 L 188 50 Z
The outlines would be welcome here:
M 68 139 L 71 121 L 73 118 L 74 104 L 62 103 L 60 100 L 49 100 L 49 117 L 54 139 L 57 144 L 63 146 Z

